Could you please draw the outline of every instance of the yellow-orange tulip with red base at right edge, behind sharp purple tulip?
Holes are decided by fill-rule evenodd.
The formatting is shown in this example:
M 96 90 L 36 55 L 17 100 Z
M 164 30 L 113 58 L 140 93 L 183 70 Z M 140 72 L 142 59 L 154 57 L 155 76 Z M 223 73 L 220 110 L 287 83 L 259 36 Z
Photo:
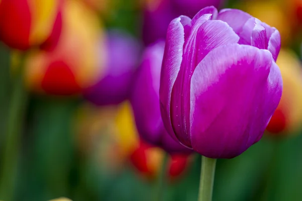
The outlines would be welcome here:
M 302 70 L 301 63 L 290 50 L 281 50 L 277 64 L 283 79 L 283 92 L 275 113 L 266 130 L 271 136 L 298 133 L 302 120 Z

